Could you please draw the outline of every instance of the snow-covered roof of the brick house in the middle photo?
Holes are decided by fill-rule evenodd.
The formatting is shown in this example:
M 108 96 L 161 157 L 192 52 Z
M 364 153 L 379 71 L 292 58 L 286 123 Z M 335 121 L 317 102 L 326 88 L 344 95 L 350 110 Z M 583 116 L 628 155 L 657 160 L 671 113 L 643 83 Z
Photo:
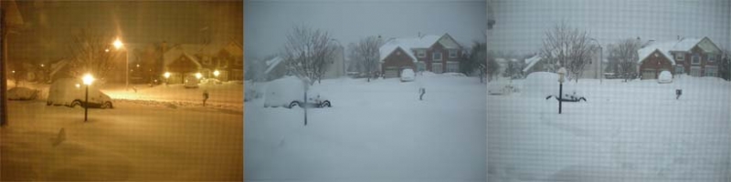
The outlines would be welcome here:
M 445 34 L 447 35 L 447 34 Z M 406 37 L 406 38 L 395 38 L 391 39 L 386 44 L 381 45 L 381 47 L 378 49 L 378 53 L 380 53 L 380 62 L 383 63 L 384 59 L 391 53 L 397 50 L 397 48 L 401 48 L 406 52 L 406 54 L 411 57 L 411 59 L 414 60 L 414 62 L 417 62 L 417 57 L 414 56 L 412 49 L 418 49 L 418 48 L 429 48 L 431 45 L 434 45 L 437 43 L 437 41 L 440 40 L 442 36 L 440 35 L 423 35 L 423 36 L 415 36 L 415 37 Z

